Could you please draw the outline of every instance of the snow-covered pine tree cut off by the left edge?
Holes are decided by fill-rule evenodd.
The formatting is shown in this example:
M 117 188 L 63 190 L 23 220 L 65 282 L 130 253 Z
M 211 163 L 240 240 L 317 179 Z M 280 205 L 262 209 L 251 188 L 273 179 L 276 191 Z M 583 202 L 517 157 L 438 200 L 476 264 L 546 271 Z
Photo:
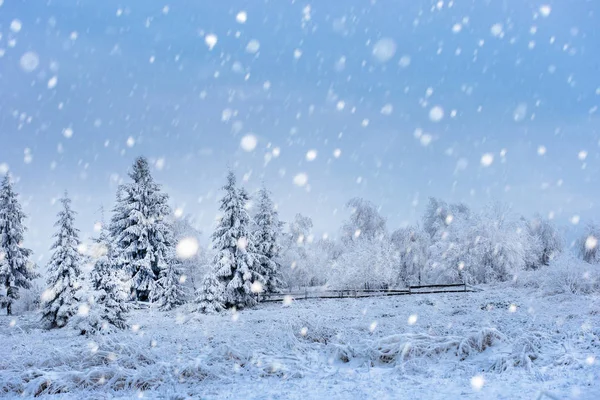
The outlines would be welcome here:
M 8 174 L 0 188 L 0 284 L 6 289 L 3 303 L 6 312 L 12 314 L 12 304 L 19 298 L 19 289 L 31 288 L 31 281 L 38 275 L 29 261 L 31 250 L 21 247 L 26 228 L 25 213 L 12 188 Z

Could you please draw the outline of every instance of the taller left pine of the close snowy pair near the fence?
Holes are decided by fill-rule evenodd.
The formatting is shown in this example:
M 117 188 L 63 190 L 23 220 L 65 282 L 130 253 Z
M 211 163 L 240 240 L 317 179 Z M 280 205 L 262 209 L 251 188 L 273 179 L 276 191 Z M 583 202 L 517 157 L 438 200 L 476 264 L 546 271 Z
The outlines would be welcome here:
M 225 195 L 221 199 L 222 217 L 212 234 L 216 251 L 213 268 L 217 279 L 225 288 L 225 306 L 238 307 L 256 304 L 252 284 L 264 285 L 257 266 L 254 244 L 249 230 L 250 217 L 246 211 L 248 194 L 235 185 L 235 175 L 229 172 Z

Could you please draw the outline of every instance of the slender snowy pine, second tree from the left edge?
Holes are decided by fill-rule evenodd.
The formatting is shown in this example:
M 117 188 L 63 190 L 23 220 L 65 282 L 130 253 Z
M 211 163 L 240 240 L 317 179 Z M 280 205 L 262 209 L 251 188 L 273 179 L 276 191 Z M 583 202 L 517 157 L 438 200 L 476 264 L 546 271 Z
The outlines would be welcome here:
M 52 245 L 54 253 L 48 263 L 48 289 L 42 295 L 44 305 L 42 319 L 48 328 L 62 328 L 77 312 L 81 299 L 81 266 L 83 257 L 78 251 L 81 243 L 79 230 L 75 228 L 75 211 L 67 193 L 60 200 L 63 209 L 54 224 L 58 232 Z

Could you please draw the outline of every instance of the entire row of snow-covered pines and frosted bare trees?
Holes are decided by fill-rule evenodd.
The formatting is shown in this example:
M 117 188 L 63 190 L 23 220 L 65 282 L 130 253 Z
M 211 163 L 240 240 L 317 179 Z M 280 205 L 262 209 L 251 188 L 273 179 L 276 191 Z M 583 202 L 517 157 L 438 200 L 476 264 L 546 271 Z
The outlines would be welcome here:
M 369 201 L 347 203 L 339 239 L 315 239 L 310 218 L 279 220 L 263 187 L 249 212 L 250 195 L 229 172 L 211 248 L 198 251 L 199 231 L 174 218 L 169 197 L 140 157 L 118 187 L 110 221 L 102 214 L 91 246 L 82 244 L 67 193 L 55 223 L 41 321 L 72 325 L 81 333 L 125 328 L 136 302 L 161 310 L 184 303 L 196 312 L 252 307 L 257 294 L 283 288 L 405 287 L 421 283 L 489 283 L 549 265 L 564 251 L 551 220 L 512 215 L 494 204 L 474 212 L 464 204 L 431 198 L 420 225 L 389 233 Z M 7 174 L 0 188 L 0 305 L 12 313 L 21 290 L 39 274 L 24 247 L 25 214 Z M 600 263 L 600 228 L 590 224 L 577 243 L 582 259 Z

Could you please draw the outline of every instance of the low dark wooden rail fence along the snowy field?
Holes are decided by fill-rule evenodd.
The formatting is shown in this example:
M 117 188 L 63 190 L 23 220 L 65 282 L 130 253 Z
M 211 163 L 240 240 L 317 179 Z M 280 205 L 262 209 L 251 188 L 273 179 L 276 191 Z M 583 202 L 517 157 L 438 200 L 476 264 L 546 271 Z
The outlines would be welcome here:
M 269 295 L 257 294 L 257 300 L 261 303 L 285 302 L 289 300 L 309 299 L 343 299 L 343 298 L 366 298 L 383 296 L 407 296 L 413 294 L 433 293 L 467 293 L 480 292 L 481 289 L 466 283 L 453 283 L 448 285 L 420 285 L 402 289 L 337 289 L 337 290 L 304 290 L 289 293 L 274 293 Z

